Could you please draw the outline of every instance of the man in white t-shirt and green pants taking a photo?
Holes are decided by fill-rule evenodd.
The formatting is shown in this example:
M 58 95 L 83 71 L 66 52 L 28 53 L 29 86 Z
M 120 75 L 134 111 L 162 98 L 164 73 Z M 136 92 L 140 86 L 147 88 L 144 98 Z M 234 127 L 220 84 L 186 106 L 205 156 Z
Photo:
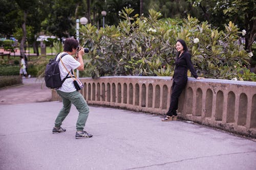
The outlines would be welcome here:
M 83 47 L 79 47 L 79 43 L 77 40 L 75 40 L 74 38 L 67 38 L 64 42 L 64 50 L 62 53 L 58 54 L 56 60 L 58 60 L 59 57 L 65 53 L 67 53 L 68 55 L 63 56 L 61 58 L 61 62 L 59 62 L 58 64 L 61 80 L 69 74 L 67 70 L 70 70 L 70 73 L 73 74 L 74 69 L 78 69 L 80 71 L 84 69 L 82 59 L 84 49 Z M 73 58 L 72 55 L 76 55 L 76 57 Z M 52 132 L 60 133 L 66 131 L 66 129 L 63 129 L 60 126 L 62 125 L 63 120 L 69 114 L 71 104 L 73 104 L 79 112 L 76 123 L 75 137 L 77 139 L 90 138 L 93 135 L 87 133 L 86 131 L 83 131 L 83 128 L 86 124 L 86 120 L 89 115 L 89 107 L 87 105 L 87 102 L 84 100 L 82 94 L 76 91 L 73 81 L 74 80 L 71 77 L 69 77 L 63 82 L 62 86 L 56 90 L 62 99 L 63 107 L 61 108 L 57 118 L 55 119 L 55 126 Z

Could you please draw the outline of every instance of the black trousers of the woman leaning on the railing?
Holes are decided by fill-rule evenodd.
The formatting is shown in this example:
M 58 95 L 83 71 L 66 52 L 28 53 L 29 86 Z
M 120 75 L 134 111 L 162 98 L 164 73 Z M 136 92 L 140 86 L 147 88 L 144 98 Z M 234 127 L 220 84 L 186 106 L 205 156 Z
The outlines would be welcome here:
M 179 104 L 179 97 L 182 92 L 182 90 L 185 88 L 187 84 L 187 81 L 183 83 L 177 84 L 175 81 L 173 81 L 173 87 L 172 87 L 172 94 L 170 95 L 170 107 L 166 115 L 168 116 L 176 116 L 177 115 L 177 109 Z

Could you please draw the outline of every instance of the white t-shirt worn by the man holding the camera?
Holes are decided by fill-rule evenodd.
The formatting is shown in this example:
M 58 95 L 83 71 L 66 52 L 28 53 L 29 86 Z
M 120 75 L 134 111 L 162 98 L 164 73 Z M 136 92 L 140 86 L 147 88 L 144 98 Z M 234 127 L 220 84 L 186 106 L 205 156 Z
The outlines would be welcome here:
M 57 58 L 56 58 L 56 61 L 59 59 L 59 57 L 64 54 L 63 52 L 60 53 Z M 81 64 L 76 61 L 71 55 L 66 55 L 64 57 L 61 58 L 63 64 L 66 66 L 66 68 L 68 69 L 68 71 L 70 71 L 71 69 L 73 69 L 73 72 L 74 72 L 74 69 L 76 69 L 77 67 L 79 67 Z M 61 63 L 61 61 L 59 61 L 59 72 L 60 72 L 60 78 L 61 80 L 63 80 L 67 74 L 68 74 L 68 71 L 66 70 L 66 68 L 63 66 L 63 64 Z M 70 72 L 70 74 L 72 74 L 72 72 Z M 68 76 L 70 77 L 70 75 Z M 74 77 L 74 76 L 73 76 Z M 73 91 L 76 91 L 76 88 L 74 86 L 74 83 L 73 83 L 74 79 L 73 78 L 68 78 L 64 81 L 64 83 L 62 84 L 62 86 L 58 89 L 60 91 L 63 91 L 63 92 L 73 92 Z

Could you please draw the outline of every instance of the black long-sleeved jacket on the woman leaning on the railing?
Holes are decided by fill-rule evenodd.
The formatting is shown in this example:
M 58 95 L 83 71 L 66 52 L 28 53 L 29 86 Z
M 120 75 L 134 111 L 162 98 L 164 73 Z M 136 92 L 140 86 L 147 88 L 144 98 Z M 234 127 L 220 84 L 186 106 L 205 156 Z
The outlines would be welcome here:
M 179 57 L 180 52 L 177 53 L 175 59 L 174 82 L 177 84 L 184 84 L 187 82 L 187 69 L 190 70 L 194 78 L 198 78 L 196 70 L 191 62 L 191 55 L 188 52 L 183 52 Z

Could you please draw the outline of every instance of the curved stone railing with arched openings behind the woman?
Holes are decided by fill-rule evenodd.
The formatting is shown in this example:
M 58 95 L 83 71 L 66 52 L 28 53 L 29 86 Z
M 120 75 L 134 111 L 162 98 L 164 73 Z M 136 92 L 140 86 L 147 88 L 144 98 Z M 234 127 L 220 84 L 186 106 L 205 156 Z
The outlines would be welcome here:
M 88 104 L 165 114 L 172 80 L 169 77 L 119 76 L 81 78 Z M 52 100 L 60 101 L 56 91 Z M 179 118 L 256 137 L 256 82 L 189 78 L 181 93 Z M 160 120 L 159 120 L 160 121 Z

